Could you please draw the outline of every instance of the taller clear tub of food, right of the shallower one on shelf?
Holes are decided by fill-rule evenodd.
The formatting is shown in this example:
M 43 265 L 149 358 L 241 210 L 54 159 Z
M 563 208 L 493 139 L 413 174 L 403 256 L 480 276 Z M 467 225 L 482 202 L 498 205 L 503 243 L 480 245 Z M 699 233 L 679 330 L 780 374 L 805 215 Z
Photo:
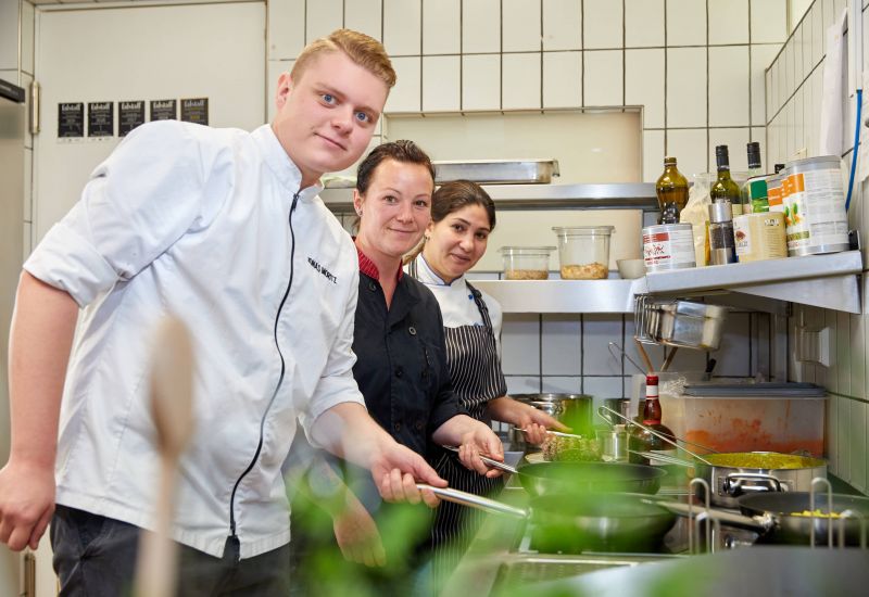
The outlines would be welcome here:
M 564 280 L 600 280 L 609 275 L 609 234 L 615 226 L 555 227 Z

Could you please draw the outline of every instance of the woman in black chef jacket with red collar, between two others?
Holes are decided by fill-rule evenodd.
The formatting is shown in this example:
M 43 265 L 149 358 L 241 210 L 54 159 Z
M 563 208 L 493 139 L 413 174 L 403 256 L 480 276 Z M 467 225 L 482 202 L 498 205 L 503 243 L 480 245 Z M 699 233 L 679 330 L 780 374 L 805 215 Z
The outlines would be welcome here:
M 424 456 L 431 456 L 434 445 L 459 446 L 459 460 L 470 474 L 493 479 L 500 472 L 483 465 L 479 454 L 502 460 L 501 441 L 490 425 L 468 416 L 453 392 L 438 301 L 402 270 L 402 257 L 419 243 L 429 225 L 433 190 L 431 162 L 411 141 L 381 144 L 358 166 L 353 193 L 360 262 L 353 376 L 368 412 L 399 443 Z M 322 462 L 307 474 L 312 485 L 336 483 L 336 479 L 325 479 L 330 477 Z M 360 582 L 373 583 L 382 590 L 410 588 L 407 574 L 418 566 L 419 558 L 412 556 L 404 563 L 390 560 L 413 552 L 421 556 L 429 530 L 419 528 L 416 537 L 406 537 L 403 554 L 395 549 L 390 552 L 388 544 L 395 543 L 393 532 L 406 531 L 390 526 L 389 518 L 395 510 L 380 504 L 370 475 L 366 479 L 355 474 L 354 467 L 344 466 L 343 481 L 350 487 L 348 506 L 330 512 L 341 551 L 348 559 L 387 567 L 381 572 L 353 572 Z M 319 501 L 323 506 L 324 500 Z M 305 534 L 295 504 L 292 512 L 297 571 L 308 575 L 304 581 L 308 594 L 322 593 L 323 586 L 317 585 L 329 579 L 325 574 L 311 577 L 312 568 L 304 560 L 310 561 L 323 537 Z M 423 512 L 423 524 L 428 520 L 428 513 Z M 396 579 L 390 570 L 395 566 L 403 568 L 403 579 Z

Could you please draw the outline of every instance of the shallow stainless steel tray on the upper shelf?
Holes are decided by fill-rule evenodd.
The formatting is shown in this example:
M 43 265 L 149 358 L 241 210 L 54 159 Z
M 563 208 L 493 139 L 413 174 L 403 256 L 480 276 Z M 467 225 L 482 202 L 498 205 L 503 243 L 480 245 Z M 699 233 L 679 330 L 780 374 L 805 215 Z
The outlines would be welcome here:
M 434 182 L 471 180 L 479 185 L 547 185 L 558 176 L 557 160 L 464 160 L 432 162 Z

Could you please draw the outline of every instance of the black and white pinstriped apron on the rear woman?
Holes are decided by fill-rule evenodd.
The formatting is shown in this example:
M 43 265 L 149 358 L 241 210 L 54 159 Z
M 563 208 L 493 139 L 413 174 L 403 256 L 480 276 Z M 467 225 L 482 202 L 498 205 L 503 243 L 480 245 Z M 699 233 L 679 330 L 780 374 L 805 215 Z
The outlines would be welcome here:
M 487 403 L 507 393 L 501 370 L 492 321 L 480 292 L 465 282 L 480 309 L 483 326 L 444 328 L 446 361 L 453 391 L 477 420 L 491 423 Z M 434 469 L 451 487 L 477 495 L 489 495 L 503 487 L 501 478 L 488 479 L 462 466 L 456 455 L 440 450 Z M 433 510 L 431 529 L 432 572 L 438 584 L 445 581 L 467 549 L 482 522 L 482 512 L 450 501 L 441 501 Z

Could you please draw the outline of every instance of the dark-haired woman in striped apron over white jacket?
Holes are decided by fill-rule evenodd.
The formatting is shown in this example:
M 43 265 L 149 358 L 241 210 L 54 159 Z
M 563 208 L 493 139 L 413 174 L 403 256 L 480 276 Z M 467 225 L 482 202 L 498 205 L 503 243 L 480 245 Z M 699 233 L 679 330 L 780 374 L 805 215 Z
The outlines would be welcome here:
M 432 196 L 425 241 L 407 270 L 431 290 L 444 322 L 446 360 L 453 390 L 468 414 L 490 424 L 513 423 L 541 443 L 546 428 L 566 428 L 545 412 L 506 396 L 501 371 L 501 305 L 474 288 L 465 272 L 486 253 L 495 227 L 495 205 L 475 182 L 446 182 Z M 480 477 L 457 466 L 441 450 L 431 465 L 451 487 L 478 495 L 501 488 L 501 479 Z M 480 516 L 469 508 L 441 503 L 431 532 L 434 579 L 443 581 L 465 551 Z

